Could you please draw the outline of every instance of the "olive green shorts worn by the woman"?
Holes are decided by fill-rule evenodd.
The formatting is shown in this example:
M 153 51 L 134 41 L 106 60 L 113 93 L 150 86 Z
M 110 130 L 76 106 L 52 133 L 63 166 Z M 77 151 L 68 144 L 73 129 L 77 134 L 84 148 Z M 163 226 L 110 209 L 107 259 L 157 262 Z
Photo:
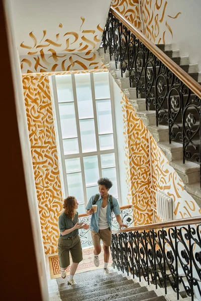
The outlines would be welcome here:
M 79 263 L 82 261 L 82 248 L 79 235 L 73 238 L 62 238 L 58 240 L 58 255 L 60 267 L 67 267 L 70 265 L 70 254 L 72 262 Z

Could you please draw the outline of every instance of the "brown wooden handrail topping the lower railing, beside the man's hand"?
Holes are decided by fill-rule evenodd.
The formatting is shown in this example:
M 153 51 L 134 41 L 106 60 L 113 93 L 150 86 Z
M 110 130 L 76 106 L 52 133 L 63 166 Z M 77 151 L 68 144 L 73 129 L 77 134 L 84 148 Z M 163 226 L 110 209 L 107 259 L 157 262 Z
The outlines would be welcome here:
M 152 230 L 152 229 L 162 229 L 162 228 L 171 228 L 171 227 L 179 227 L 185 225 L 194 225 L 201 224 L 201 216 L 191 217 L 191 218 L 183 218 L 179 220 L 173 220 L 162 223 L 148 224 L 148 225 L 140 225 L 136 227 L 126 228 L 123 230 L 114 230 L 113 234 L 130 232 L 130 231 L 142 231 L 142 230 Z

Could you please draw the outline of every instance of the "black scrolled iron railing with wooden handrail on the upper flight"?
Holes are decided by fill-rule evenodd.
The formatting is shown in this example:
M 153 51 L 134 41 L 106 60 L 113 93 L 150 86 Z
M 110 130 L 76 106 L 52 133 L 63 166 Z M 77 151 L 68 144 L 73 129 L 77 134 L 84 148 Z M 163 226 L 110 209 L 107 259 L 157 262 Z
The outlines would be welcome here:
M 138 98 L 146 98 L 146 109 L 155 110 L 156 125 L 169 127 L 169 142 L 183 145 L 183 163 L 200 165 L 201 85 L 111 7 L 102 38 L 121 74 L 129 77 Z M 201 169 L 200 169 L 201 179 Z M 200 181 L 201 183 L 201 181 Z

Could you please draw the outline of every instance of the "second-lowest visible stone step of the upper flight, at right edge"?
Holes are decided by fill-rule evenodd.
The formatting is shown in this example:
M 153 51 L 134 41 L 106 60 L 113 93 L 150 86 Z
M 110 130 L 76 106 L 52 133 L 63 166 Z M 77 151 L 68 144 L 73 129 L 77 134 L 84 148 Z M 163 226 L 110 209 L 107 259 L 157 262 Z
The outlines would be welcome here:
M 184 184 L 199 183 L 199 165 L 193 162 L 171 161 L 171 167 L 177 172 Z

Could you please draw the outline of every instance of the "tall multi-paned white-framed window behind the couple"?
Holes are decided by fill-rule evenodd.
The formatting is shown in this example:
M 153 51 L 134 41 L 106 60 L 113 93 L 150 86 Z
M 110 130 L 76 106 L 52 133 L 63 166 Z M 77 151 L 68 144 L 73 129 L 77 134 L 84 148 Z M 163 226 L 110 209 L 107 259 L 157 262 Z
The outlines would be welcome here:
M 65 194 L 76 197 L 82 214 L 100 177 L 111 179 L 110 193 L 120 196 L 109 74 L 56 75 L 52 84 Z

